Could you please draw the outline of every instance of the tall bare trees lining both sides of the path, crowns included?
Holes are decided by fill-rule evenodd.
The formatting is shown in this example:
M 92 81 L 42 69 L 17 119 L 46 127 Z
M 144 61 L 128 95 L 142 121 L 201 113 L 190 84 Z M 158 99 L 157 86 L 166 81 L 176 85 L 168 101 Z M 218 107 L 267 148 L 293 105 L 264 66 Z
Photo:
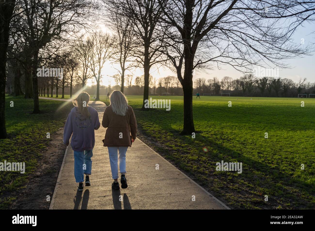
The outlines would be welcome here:
M 84 88 L 89 78 L 95 78 L 99 86 L 100 70 L 104 63 L 109 59 L 116 60 L 120 68 L 115 82 L 120 83 L 122 91 L 125 80 L 129 81 L 125 71 L 141 67 L 144 72 L 141 110 L 149 110 L 144 105 L 149 96 L 150 69 L 153 66 L 168 67 L 176 73 L 184 94 L 184 123 L 181 134 L 191 134 L 195 131 L 192 115 L 192 78 L 195 69 L 231 65 L 236 70 L 249 73 L 253 65 L 263 66 L 266 63 L 285 68 L 287 66 L 282 60 L 313 51 L 312 46 L 297 46 L 291 38 L 305 21 L 314 19 L 314 2 L 0 1 L 1 138 L 6 137 L 4 89 L 9 65 L 11 68 L 23 69 L 24 94 L 26 98 L 33 98 L 33 113 L 40 113 L 38 89 L 41 80 L 38 81 L 37 76 L 39 67 L 65 67 L 66 77 L 55 79 L 55 83 L 50 80 L 50 85 L 59 86 L 61 82 L 63 86 L 62 81 L 65 81 L 65 85 L 71 85 L 69 73 L 72 73 L 72 68 L 67 65 L 71 57 L 75 58 L 79 68 L 74 69 L 73 75 L 80 79 Z M 98 4 L 100 2 L 102 6 Z M 100 22 L 100 18 L 106 19 L 105 24 L 111 29 L 114 40 L 109 35 L 91 33 L 95 31 L 92 25 L 96 21 Z M 287 21 L 290 23 L 286 23 Z M 85 31 L 89 32 L 89 36 L 86 36 Z M 103 39 L 106 36 L 108 40 L 105 42 Z M 12 42 L 14 46 L 10 46 Z M 107 52 L 104 44 L 108 45 L 110 52 Z M 11 64 L 7 64 L 7 58 L 12 61 Z M 14 69 L 10 71 L 14 73 Z M 14 79 L 15 76 L 20 74 L 14 74 Z M 16 79 L 14 87 L 19 85 L 18 77 Z M 138 79 L 137 83 L 140 84 L 141 81 Z M 165 81 L 165 88 L 169 88 L 170 80 Z M 214 83 L 214 88 L 219 88 L 218 85 L 221 84 Z M 250 89 L 252 87 L 248 86 L 247 91 Z M 18 89 L 17 92 L 19 91 Z

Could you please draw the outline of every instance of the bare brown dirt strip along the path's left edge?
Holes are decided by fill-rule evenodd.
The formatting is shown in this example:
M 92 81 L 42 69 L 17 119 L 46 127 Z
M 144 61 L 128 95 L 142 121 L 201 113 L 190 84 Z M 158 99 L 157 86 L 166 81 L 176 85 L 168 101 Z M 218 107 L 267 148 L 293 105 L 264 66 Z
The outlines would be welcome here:
M 4 197 L 16 197 L 9 206 L 10 209 L 49 209 L 66 150 L 63 145 L 63 128 L 50 134 L 50 137 L 49 145 L 37 160 L 36 169 L 27 178 L 28 183 L 17 192 L 3 193 Z M 47 201 L 48 195 L 50 201 Z

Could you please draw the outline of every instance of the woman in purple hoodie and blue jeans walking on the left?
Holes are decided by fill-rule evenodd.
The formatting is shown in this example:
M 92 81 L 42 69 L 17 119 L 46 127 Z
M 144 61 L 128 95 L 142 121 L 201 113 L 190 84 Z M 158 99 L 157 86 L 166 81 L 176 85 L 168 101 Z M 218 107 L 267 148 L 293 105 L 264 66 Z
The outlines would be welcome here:
M 94 130 L 99 129 L 100 121 L 98 113 L 93 107 L 89 107 L 90 96 L 86 92 L 81 92 L 72 103 L 72 108 L 68 115 L 63 132 L 63 143 L 68 146 L 71 138 L 71 147 L 74 152 L 74 177 L 79 183 L 78 190 L 83 190 L 84 174 L 85 186 L 90 186 L 89 175 L 92 170 L 93 156 L 92 150 L 95 144 Z

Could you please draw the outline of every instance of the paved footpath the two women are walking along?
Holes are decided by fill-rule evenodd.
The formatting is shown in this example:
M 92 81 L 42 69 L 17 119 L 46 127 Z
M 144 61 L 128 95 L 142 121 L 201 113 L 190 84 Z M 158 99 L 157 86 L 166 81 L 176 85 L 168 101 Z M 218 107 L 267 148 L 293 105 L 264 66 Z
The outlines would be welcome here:
M 101 123 L 106 105 L 90 101 L 89 106 L 97 110 Z M 95 131 L 91 186 L 81 192 L 68 146 L 49 209 L 229 209 L 139 139 L 126 154 L 128 188 L 112 190 L 108 150 L 102 142 L 105 131 L 102 125 Z

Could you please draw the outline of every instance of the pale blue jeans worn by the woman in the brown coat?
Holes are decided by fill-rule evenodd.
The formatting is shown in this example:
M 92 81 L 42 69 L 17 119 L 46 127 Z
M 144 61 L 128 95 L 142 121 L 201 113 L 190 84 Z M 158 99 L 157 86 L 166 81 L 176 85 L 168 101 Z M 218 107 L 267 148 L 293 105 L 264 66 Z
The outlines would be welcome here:
M 127 149 L 128 147 L 108 147 L 109 162 L 111 163 L 113 179 L 118 179 L 118 165 L 120 173 L 126 173 Z

